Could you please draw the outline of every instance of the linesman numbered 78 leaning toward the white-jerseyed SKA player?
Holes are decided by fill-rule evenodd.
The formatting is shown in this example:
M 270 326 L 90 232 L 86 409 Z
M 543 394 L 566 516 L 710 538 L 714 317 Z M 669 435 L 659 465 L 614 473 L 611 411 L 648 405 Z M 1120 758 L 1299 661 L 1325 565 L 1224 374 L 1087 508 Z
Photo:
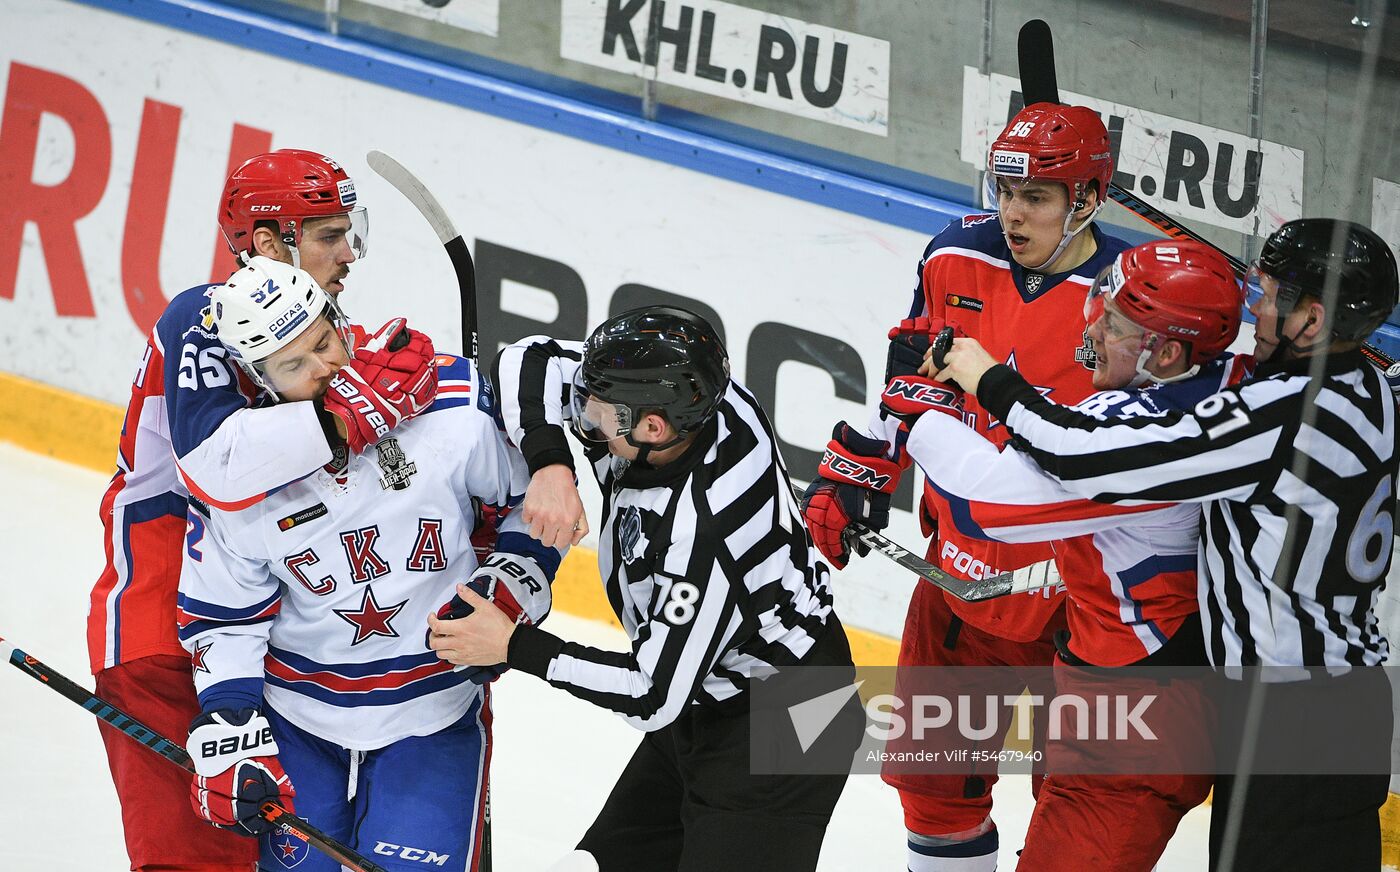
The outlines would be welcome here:
M 599 571 L 631 651 L 512 626 L 466 588 L 476 610 L 431 620 L 433 648 L 504 661 L 645 732 L 578 844 L 595 868 L 816 868 L 846 775 L 753 773 L 750 750 L 795 739 L 773 729 L 791 729 L 780 708 L 750 710 L 750 687 L 816 675 L 798 697 L 811 698 L 850 686 L 854 666 L 773 427 L 729 378 L 720 337 L 692 312 L 647 307 L 587 343 L 522 340 L 496 382 L 531 490 L 554 491 L 543 502 L 577 504 L 564 427 L 584 441 L 603 494 Z M 808 753 L 850 760 L 862 728 L 853 694 Z

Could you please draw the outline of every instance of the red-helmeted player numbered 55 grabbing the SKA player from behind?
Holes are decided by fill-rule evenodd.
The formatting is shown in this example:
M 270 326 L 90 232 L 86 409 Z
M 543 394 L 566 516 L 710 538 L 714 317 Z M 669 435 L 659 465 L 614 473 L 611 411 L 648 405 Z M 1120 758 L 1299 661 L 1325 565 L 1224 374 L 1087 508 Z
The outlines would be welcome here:
M 368 220 L 354 182 L 314 151 L 283 148 L 246 161 L 228 178 L 218 207 L 220 230 L 239 263 L 265 255 L 298 265 L 333 295 L 364 256 Z M 230 272 L 234 267 L 231 262 Z M 332 445 L 360 449 L 372 442 L 384 421 L 414 414 L 437 391 L 431 343 L 416 335 L 412 371 L 386 368 L 364 353 L 340 371 L 364 398 L 356 406 L 255 407 L 256 386 L 231 365 L 206 321 L 210 287 L 176 295 L 147 340 L 118 470 L 99 508 L 106 567 L 88 612 L 98 694 L 164 735 L 181 735 L 199 712 L 190 656 L 175 633 L 190 494 L 221 508 L 251 505 L 321 469 L 332 459 Z M 407 357 L 395 356 L 393 367 L 405 367 Z M 133 869 L 252 868 L 252 840 L 213 830 L 195 816 L 189 775 L 105 724 L 102 740 Z M 162 815 L 150 815 L 150 808 Z

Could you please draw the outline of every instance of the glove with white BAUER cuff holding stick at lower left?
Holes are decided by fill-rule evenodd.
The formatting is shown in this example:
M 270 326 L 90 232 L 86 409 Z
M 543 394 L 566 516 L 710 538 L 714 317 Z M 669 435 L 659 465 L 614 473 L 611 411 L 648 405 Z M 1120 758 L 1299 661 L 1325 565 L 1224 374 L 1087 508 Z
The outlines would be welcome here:
M 262 817 L 262 803 L 295 812 L 291 778 L 277 761 L 277 742 L 267 718 L 255 708 L 207 711 L 189 725 L 195 781 L 189 801 L 195 813 L 224 830 L 262 836 L 276 827 Z

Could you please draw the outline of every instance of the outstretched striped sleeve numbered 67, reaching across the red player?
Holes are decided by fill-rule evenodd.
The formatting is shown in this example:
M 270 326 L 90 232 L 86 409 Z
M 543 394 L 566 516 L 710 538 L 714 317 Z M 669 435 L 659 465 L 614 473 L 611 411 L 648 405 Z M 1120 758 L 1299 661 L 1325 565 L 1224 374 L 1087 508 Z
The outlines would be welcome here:
M 1221 391 L 1191 412 L 1099 420 L 1044 399 L 1005 365 L 987 371 L 977 400 L 1068 490 L 1100 502 L 1247 500 L 1296 431 L 1302 379 Z

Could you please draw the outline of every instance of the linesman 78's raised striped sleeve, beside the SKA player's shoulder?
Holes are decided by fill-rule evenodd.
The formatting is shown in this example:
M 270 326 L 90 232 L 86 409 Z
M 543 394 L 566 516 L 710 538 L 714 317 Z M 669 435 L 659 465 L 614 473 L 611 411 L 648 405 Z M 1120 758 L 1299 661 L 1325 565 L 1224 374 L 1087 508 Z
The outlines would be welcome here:
M 574 467 L 564 427 L 568 385 L 581 350 L 581 342 L 528 336 L 496 357 L 491 381 L 500 396 L 501 420 L 511 442 L 525 455 L 531 474 L 553 463 Z

